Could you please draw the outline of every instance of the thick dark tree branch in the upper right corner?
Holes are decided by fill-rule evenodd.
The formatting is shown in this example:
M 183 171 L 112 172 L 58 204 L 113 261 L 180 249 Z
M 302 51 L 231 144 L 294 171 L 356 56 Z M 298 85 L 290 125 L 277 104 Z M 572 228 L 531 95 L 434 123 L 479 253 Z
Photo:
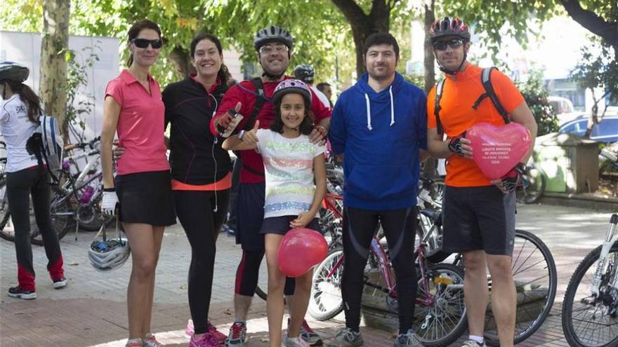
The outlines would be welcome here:
M 596 13 L 584 10 L 577 0 L 560 0 L 560 3 L 575 22 L 609 43 L 614 48 L 614 60 L 618 61 L 618 22 L 607 22 Z M 612 6 L 617 6 L 615 1 Z

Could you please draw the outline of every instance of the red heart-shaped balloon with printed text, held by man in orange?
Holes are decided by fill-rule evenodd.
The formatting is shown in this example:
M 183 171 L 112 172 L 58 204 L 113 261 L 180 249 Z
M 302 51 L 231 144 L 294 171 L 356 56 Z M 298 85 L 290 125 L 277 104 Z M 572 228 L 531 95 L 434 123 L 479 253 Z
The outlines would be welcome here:
M 504 177 L 530 149 L 530 131 L 520 123 L 496 126 L 477 123 L 466 131 L 470 140 L 472 157 L 489 179 Z

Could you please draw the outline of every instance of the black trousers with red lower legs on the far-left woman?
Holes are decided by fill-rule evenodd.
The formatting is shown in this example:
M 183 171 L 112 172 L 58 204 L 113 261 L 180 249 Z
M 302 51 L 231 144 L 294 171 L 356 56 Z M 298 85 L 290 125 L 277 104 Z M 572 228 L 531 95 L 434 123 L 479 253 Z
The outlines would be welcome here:
M 30 245 L 29 205 L 32 194 L 34 219 L 43 237 L 47 255 L 47 271 L 52 280 L 60 280 L 63 270 L 63 254 L 60 252 L 58 233 L 53 229 L 49 212 L 50 188 L 46 171 L 28 168 L 6 174 L 6 196 L 15 226 L 15 255 L 18 264 L 18 283 L 25 290 L 34 291 L 34 268 L 32 245 Z

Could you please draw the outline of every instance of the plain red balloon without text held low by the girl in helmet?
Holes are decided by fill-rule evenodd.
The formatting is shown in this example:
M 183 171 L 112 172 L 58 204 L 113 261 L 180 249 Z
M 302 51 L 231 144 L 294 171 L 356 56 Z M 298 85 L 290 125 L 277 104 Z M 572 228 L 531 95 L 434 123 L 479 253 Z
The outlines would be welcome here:
M 307 228 L 288 231 L 279 247 L 277 262 L 288 277 L 300 277 L 320 264 L 328 252 L 328 243 L 321 233 Z

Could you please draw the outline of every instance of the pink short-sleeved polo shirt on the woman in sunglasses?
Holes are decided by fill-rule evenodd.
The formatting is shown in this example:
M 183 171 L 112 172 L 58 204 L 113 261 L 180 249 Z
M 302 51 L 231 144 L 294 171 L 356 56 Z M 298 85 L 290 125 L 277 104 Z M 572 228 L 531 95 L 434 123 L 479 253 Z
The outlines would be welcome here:
M 148 75 L 150 93 L 127 70 L 107 83 L 110 95 L 120 105 L 116 132 L 124 154 L 118 159 L 119 175 L 169 170 L 164 136 L 165 107 L 159 83 Z

